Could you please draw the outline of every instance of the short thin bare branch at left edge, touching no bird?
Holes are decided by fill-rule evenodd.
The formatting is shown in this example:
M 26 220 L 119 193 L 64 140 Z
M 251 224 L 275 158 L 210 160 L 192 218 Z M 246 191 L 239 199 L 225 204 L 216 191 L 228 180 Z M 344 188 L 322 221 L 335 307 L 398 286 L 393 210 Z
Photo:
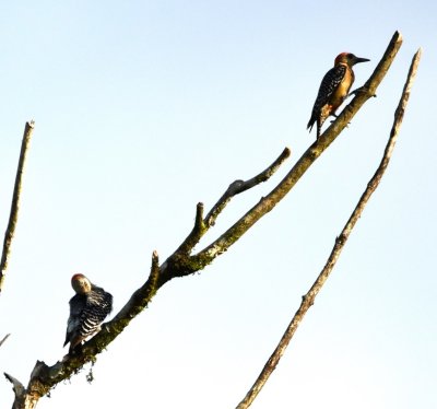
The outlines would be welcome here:
M 13 191 L 13 196 L 12 196 L 11 213 L 9 217 L 9 223 L 8 223 L 7 231 L 4 233 L 3 252 L 1 255 L 1 261 L 0 261 L 0 294 L 1 294 L 1 291 L 3 288 L 3 283 L 4 283 L 4 276 L 5 276 L 5 270 L 8 268 L 8 261 L 9 261 L 10 250 L 11 250 L 12 238 L 14 236 L 16 222 L 19 220 L 20 196 L 21 196 L 21 189 L 22 189 L 23 172 L 24 172 L 24 165 L 26 162 L 26 154 L 27 154 L 28 145 L 29 145 L 31 138 L 32 138 L 32 132 L 34 130 L 34 125 L 35 125 L 35 122 L 33 120 L 29 122 L 26 122 L 26 126 L 24 128 L 23 140 L 21 143 L 20 161 L 19 161 L 19 167 L 16 170 L 15 186 L 14 186 L 14 191 Z

